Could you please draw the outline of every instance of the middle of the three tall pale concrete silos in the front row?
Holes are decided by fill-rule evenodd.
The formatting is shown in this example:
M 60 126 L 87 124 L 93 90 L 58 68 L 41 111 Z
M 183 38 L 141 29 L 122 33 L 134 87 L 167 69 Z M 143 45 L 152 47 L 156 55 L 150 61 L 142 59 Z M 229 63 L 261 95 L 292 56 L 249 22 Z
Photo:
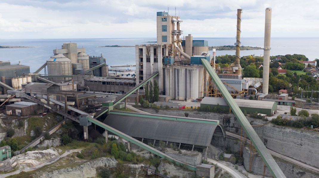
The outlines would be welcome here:
M 175 69 L 175 99 L 186 100 L 186 68 Z

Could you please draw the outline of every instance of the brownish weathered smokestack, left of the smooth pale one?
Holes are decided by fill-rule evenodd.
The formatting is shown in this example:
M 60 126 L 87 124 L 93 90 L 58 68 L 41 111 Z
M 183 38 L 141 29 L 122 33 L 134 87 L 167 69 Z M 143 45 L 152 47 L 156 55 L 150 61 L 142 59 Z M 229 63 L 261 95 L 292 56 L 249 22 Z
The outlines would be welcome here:
M 240 33 L 241 33 L 241 30 L 240 30 L 240 26 L 241 26 L 241 9 L 237 9 L 237 35 L 236 35 L 236 60 L 235 60 L 235 66 L 234 67 L 237 67 L 238 69 L 235 70 L 235 74 L 238 74 L 238 75 L 241 75 L 241 66 L 240 66 L 240 63 L 239 63 L 239 60 L 240 60 Z

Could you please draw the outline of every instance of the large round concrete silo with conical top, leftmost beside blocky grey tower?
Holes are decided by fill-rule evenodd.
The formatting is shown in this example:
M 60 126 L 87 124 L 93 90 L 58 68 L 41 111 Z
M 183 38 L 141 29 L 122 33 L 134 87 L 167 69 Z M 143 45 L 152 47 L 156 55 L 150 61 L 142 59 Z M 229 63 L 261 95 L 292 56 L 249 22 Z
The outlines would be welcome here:
M 63 54 L 56 54 L 52 56 L 48 61 L 48 75 L 71 75 L 72 67 L 71 60 L 65 57 Z M 50 78 L 49 80 L 59 83 L 70 78 Z

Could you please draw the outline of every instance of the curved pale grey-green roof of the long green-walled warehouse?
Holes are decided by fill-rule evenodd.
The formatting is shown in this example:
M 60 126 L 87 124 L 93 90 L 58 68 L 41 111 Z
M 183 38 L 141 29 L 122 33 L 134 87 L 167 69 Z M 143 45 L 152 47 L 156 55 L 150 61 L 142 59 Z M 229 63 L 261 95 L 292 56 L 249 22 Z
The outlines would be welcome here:
M 239 107 L 248 107 L 248 108 L 262 108 L 262 109 L 272 109 L 274 104 L 277 103 L 272 101 L 257 101 L 257 100 L 245 100 L 245 99 L 234 99 L 235 102 Z M 227 106 L 226 100 L 224 98 L 218 97 L 204 97 L 201 101 L 201 104 L 214 104 L 214 105 L 221 105 Z

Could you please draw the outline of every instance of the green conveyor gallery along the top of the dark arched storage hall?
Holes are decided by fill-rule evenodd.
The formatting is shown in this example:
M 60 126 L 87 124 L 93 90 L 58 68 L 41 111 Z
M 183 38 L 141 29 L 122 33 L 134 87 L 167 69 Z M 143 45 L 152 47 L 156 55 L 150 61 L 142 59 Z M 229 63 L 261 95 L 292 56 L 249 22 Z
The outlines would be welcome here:
M 177 121 L 183 121 L 183 122 L 196 122 L 196 123 L 202 123 L 202 124 L 213 124 L 213 125 L 219 124 L 219 120 L 198 119 L 198 118 L 190 118 L 190 117 L 174 117 L 174 116 L 141 114 L 136 112 L 120 112 L 120 111 L 110 111 L 110 113 L 124 115 L 124 116 L 148 117 L 148 118 L 154 118 L 154 119 L 177 120 Z

